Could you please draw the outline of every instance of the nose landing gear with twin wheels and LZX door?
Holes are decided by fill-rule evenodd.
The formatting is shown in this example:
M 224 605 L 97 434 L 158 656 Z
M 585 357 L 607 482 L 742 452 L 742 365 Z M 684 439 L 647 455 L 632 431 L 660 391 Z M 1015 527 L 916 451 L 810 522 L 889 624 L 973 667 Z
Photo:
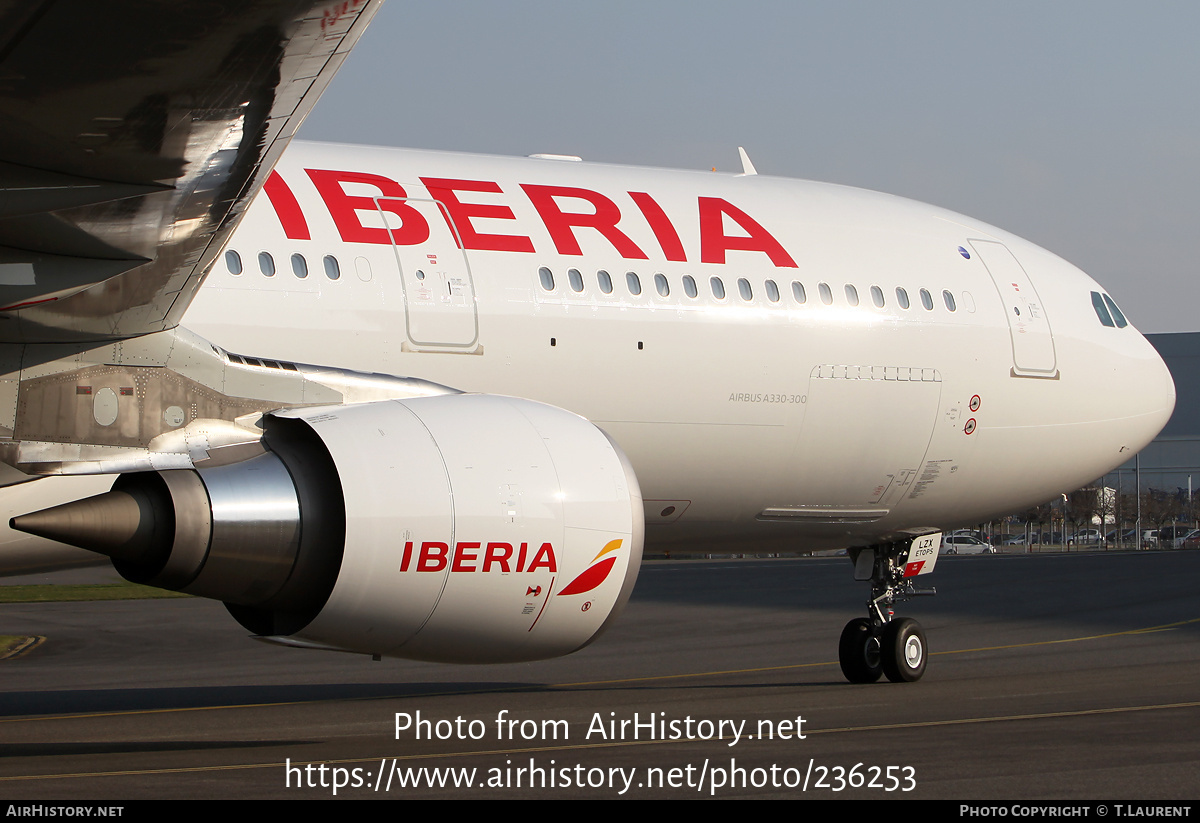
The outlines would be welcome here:
M 892 683 L 912 683 L 925 673 L 929 644 L 925 631 L 912 618 L 896 618 L 892 606 L 920 595 L 912 577 L 934 570 L 941 534 L 923 535 L 900 543 L 851 549 L 854 579 L 871 581 L 868 617 L 854 618 L 841 630 L 838 660 L 851 683 L 875 683 L 886 675 Z

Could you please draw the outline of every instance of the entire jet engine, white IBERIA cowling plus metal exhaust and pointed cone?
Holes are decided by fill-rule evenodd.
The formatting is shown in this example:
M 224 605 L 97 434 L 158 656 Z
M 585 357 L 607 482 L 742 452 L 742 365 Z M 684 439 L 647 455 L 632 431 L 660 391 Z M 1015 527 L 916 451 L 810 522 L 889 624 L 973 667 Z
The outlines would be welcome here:
M 568 654 L 632 591 L 637 480 L 577 415 L 445 395 L 277 413 L 254 459 L 124 475 L 14 525 L 114 521 L 85 512 L 107 499 L 136 521 L 109 528 L 109 545 L 40 533 L 109 554 L 131 579 L 223 600 L 257 635 L 420 660 Z

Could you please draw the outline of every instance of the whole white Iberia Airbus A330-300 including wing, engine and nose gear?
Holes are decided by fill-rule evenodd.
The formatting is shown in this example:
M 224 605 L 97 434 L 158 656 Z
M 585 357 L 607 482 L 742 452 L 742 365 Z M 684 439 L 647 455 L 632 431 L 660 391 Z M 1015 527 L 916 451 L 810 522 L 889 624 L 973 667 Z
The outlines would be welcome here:
M 942 529 L 1166 423 L 1112 298 L 962 215 L 744 150 L 292 142 L 377 7 L 6 12 L 0 500 L 34 551 L 272 643 L 497 662 L 595 639 L 646 546 L 845 547 L 844 674 L 913 681 L 894 606 Z

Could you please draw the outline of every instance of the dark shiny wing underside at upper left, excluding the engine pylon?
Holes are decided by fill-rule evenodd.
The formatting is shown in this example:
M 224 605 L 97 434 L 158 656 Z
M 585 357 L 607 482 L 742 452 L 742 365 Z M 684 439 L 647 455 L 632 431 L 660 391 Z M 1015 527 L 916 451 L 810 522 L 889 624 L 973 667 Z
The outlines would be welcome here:
M 0 0 L 0 342 L 174 328 L 382 0 Z

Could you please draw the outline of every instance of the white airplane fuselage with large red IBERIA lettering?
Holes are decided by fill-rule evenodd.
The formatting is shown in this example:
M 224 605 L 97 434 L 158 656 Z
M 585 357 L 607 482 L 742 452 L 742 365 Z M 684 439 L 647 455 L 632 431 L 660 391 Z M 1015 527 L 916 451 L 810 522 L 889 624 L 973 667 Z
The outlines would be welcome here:
M 1084 272 L 911 200 L 301 143 L 276 170 L 228 245 L 240 274 L 218 258 L 186 326 L 583 415 L 629 455 L 650 542 L 820 548 L 979 522 L 1103 475 L 1174 408 L 1162 360 L 1103 324 Z

